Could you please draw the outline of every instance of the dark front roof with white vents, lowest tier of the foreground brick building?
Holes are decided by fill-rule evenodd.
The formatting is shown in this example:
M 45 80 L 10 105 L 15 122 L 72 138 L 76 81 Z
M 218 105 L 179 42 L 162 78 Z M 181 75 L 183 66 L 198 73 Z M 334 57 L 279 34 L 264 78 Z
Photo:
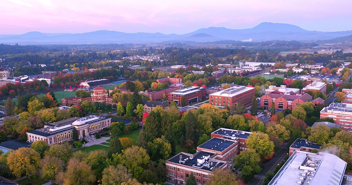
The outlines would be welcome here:
M 214 167 L 226 164 L 225 161 L 219 162 L 212 159 L 216 154 L 212 152 L 199 151 L 195 154 L 179 153 L 166 162 L 172 162 L 180 166 L 187 166 L 211 172 Z M 180 160 L 181 159 L 181 160 Z

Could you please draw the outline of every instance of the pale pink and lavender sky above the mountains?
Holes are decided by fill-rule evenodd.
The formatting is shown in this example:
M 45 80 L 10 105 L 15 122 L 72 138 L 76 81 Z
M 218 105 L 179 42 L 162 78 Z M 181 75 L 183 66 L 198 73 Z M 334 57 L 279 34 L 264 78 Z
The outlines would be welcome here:
M 352 0 L 1 0 L 0 34 L 96 30 L 183 34 L 262 22 L 352 30 Z

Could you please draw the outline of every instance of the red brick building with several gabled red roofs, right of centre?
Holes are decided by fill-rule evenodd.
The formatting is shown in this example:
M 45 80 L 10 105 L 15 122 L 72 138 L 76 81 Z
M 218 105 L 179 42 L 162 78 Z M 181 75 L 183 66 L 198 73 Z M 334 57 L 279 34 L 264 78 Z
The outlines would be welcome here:
M 312 99 L 312 96 L 309 94 L 279 94 L 278 92 L 271 92 L 269 94 L 265 94 L 260 97 L 260 107 L 264 107 L 264 109 L 271 109 L 271 104 L 274 102 L 275 109 L 290 109 L 293 110 L 296 105 L 300 105 L 302 103 L 310 100 L 315 105 L 316 104 L 324 104 L 324 100 L 321 98 Z

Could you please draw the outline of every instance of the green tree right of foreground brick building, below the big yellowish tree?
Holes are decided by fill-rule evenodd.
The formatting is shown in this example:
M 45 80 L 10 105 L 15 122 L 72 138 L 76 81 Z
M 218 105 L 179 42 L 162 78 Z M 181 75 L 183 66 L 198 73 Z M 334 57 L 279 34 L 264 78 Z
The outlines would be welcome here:
M 242 150 L 239 155 L 236 155 L 233 161 L 236 168 L 242 168 L 241 172 L 247 177 L 259 173 L 262 168 L 259 166 L 260 155 L 252 148 Z

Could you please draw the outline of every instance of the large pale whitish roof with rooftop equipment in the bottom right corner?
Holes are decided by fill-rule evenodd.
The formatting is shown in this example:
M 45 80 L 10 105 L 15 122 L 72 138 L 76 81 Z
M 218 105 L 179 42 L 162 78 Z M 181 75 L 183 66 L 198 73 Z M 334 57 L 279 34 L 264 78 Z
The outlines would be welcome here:
M 296 150 L 269 185 L 339 185 L 347 163 L 336 155 Z

